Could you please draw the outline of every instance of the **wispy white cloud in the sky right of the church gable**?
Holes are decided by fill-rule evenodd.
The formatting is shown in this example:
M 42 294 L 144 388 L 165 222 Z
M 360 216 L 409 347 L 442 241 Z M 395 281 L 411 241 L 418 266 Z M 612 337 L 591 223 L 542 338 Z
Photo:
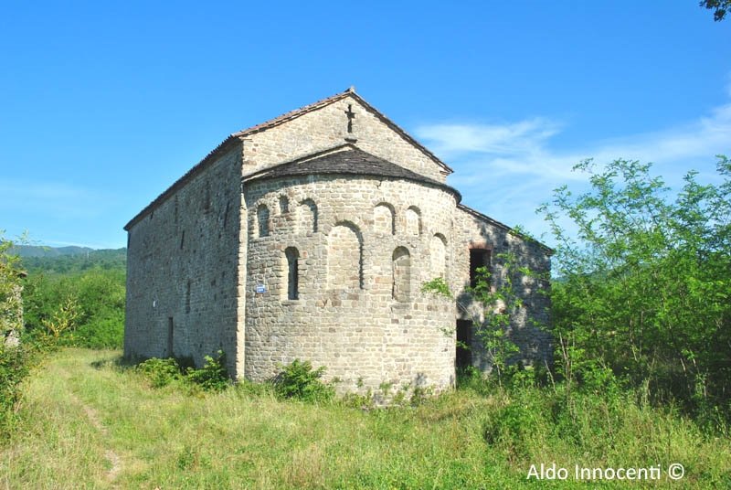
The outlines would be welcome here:
M 727 90 L 731 98 L 731 81 Z M 671 185 L 691 169 L 712 174 L 714 155 L 731 154 L 731 102 L 694 121 L 573 148 L 553 141 L 564 131 L 570 127 L 561 121 L 530 118 L 506 124 L 429 124 L 415 133 L 454 168 L 450 184 L 461 190 L 465 204 L 540 235 L 546 226 L 535 208 L 550 199 L 556 186 L 584 180 L 572 167 L 587 158 L 653 162 Z M 705 168 L 698 168 L 698 162 Z

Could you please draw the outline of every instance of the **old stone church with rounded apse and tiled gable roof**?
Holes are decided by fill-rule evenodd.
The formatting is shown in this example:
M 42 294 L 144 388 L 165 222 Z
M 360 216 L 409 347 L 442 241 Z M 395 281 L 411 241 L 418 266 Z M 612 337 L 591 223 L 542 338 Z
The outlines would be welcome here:
M 499 286 L 502 252 L 546 272 L 551 250 L 461 205 L 451 172 L 353 89 L 231 134 L 124 227 L 125 356 L 221 349 L 252 380 L 308 359 L 360 392 L 489 368 L 465 287 L 480 266 Z M 436 277 L 458 301 L 422 293 Z M 540 360 L 546 284 L 517 285 L 511 336 Z

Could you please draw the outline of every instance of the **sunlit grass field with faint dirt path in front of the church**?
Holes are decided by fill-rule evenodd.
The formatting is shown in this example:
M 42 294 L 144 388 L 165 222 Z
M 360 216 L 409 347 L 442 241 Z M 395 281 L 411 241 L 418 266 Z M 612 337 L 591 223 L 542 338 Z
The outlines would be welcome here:
M 531 464 L 660 464 L 654 481 L 605 487 L 726 488 L 731 442 L 670 411 L 579 407 L 571 427 L 515 398 L 457 390 L 416 408 L 361 410 L 281 401 L 250 386 L 191 394 L 152 389 L 117 351 L 65 349 L 26 381 L 6 488 L 535 488 Z M 514 398 L 511 398 L 514 397 Z M 620 410 L 620 411 L 617 411 Z M 566 433 L 564 433 L 566 432 Z M 664 467 L 683 463 L 672 481 Z M 572 473 L 573 474 L 573 473 Z

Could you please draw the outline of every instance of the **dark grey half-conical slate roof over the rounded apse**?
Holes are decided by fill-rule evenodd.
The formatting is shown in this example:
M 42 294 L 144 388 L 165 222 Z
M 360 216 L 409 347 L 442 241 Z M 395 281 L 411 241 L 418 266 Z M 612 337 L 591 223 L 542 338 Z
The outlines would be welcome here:
M 402 166 L 388 162 L 374 154 L 364 152 L 354 144 L 342 144 L 319 154 L 311 154 L 291 162 L 265 168 L 254 174 L 244 177 L 244 182 L 265 178 L 283 176 L 308 175 L 355 175 L 355 176 L 385 176 L 411 180 L 449 190 L 461 200 L 461 194 L 456 189 L 441 182 Z

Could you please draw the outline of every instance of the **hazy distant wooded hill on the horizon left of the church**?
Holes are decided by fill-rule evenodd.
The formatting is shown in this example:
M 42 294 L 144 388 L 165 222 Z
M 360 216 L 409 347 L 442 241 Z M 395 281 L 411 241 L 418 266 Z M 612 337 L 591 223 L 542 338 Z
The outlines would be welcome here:
M 94 268 L 127 268 L 127 249 L 94 250 L 88 247 L 37 247 L 19 245 L 13 250 L 27 272 L 74 273 Z

